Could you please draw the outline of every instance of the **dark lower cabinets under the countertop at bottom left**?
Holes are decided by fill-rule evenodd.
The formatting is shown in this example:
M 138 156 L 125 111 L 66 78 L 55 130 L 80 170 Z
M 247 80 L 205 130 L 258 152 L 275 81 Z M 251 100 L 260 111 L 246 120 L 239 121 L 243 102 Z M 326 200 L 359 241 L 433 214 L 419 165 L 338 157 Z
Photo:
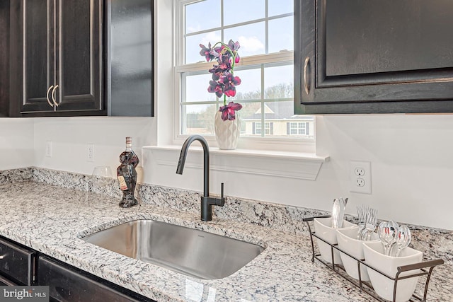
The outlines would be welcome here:
M 50 301 L 153 300 L 0 237 L 0 286 L 49 286 Z

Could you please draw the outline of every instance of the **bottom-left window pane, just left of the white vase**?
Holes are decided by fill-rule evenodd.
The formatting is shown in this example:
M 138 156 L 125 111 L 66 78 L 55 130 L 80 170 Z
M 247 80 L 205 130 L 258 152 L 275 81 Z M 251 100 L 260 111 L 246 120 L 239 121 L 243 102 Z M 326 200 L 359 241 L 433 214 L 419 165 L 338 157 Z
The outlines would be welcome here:
M 182 134 L 214 134 L 214 116 L 217 106 L 182 105 Z

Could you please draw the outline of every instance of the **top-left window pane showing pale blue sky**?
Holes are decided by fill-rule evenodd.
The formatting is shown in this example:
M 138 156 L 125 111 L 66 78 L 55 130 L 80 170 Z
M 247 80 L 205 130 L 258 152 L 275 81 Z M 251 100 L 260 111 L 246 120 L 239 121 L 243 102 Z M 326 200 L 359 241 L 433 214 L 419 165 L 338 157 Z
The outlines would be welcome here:
M 220 0 L 205 0 L 185 6 L 185 33 L 220 27 Z

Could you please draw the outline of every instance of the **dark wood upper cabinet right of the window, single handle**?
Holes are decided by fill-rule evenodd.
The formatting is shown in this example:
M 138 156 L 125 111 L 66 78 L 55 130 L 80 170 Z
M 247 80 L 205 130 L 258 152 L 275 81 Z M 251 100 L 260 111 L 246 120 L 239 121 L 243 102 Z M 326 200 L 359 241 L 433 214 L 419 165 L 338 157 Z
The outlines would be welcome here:
M 452 0 L 295 0 L 294 112 L 453 112 Z

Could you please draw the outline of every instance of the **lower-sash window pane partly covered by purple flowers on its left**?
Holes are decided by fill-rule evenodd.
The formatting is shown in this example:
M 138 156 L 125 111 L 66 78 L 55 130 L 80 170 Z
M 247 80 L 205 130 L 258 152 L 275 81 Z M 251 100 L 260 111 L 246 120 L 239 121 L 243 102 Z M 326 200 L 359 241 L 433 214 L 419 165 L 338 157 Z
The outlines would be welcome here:
M 230 98 L 237 100 L 261 99 L 261 71 L 260 69 L 246 69 L 234 71 L 234 76 L 239 76 L 241 84 L 236 86 L 236 96 Z

